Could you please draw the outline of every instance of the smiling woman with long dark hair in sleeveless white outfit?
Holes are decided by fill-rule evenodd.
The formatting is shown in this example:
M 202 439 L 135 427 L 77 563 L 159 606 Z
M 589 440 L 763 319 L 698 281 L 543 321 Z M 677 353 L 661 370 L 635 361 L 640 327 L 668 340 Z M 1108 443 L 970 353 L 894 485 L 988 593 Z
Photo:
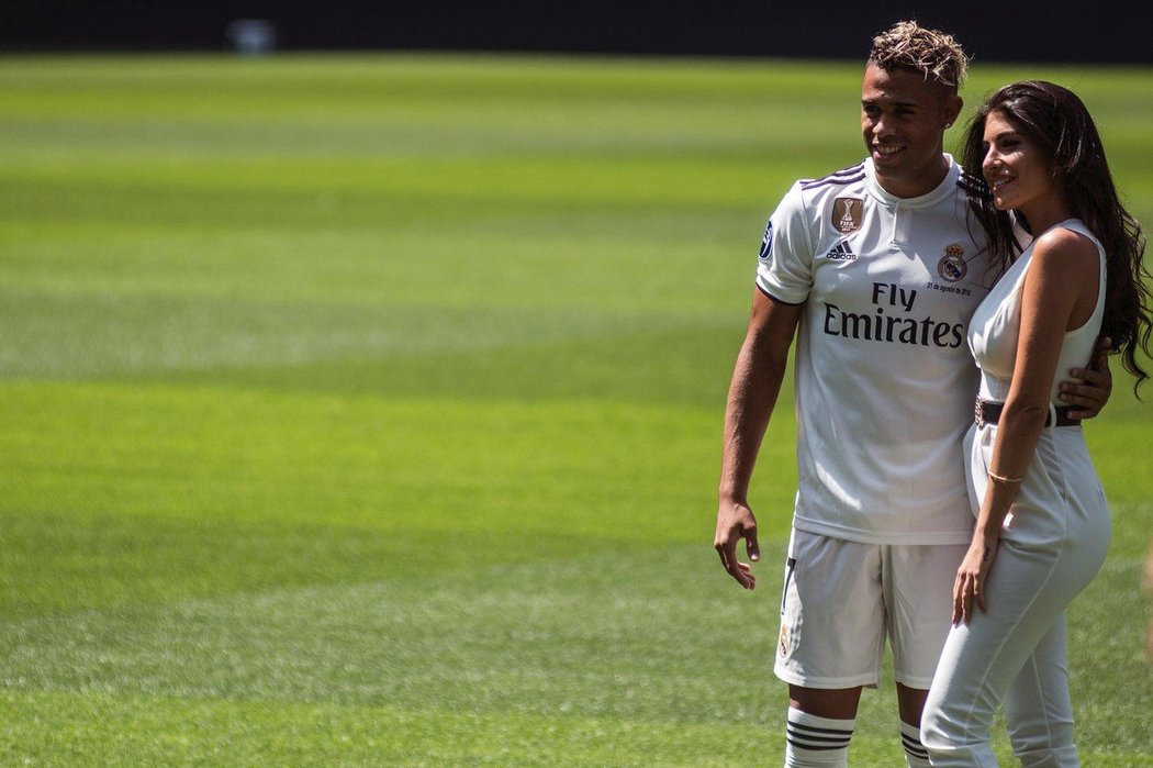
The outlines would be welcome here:
M 934 766 L 996 766 L 989 731 L 1003 705 L 1023 765 L 1077 766 L 1064 611 L 1105 560 L 1109 509 L 1056 387 L 1099 333 L 1138 385 L 1147 378 L 1137 355 L 1150 334 L 1144 239 L 1117 198 L 1092 116 L 1064 88 L 1028 81 L 996 91 L 964 156 L 988 183 L 975 213 L 993 256 L 1011 265 L 970 324 L 981 369 L 965 441 L 977 524 L 921 738 Z M 1013 223 L 1033 235 L 1019 256 Z

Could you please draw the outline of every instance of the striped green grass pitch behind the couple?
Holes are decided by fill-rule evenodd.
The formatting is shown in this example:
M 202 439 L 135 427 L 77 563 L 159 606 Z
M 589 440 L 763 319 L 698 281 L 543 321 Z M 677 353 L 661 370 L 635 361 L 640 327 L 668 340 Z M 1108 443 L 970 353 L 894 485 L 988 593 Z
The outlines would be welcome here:
M 862 156 L 859 73 L 0 60 L 0 763 L 779 765 L 794 426 L 744 593 L 721 421 L 769 210 Z M 977 62 L 966 99 L 1020 76 L 1153 223 L 1153 70 Z M 1114 372 L 1071 676 L 1085 763 L 1151 766 L 1153 420 Z M 851 756 L 903 765 L 891 680 Z

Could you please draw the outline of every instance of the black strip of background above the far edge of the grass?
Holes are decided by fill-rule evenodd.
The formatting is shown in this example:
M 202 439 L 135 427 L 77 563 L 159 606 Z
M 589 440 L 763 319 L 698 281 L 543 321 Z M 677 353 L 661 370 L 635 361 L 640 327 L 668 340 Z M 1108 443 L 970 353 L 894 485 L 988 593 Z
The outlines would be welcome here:
M 1122 2 L 779 3 L 769 0 L 420 2 L 0 0 L 0 50 L 225 51 L 236 18 L 280 50 L 452 50 L 860 60 L 900 18 L 982 61 L 1153 63 L 1153 9 Z

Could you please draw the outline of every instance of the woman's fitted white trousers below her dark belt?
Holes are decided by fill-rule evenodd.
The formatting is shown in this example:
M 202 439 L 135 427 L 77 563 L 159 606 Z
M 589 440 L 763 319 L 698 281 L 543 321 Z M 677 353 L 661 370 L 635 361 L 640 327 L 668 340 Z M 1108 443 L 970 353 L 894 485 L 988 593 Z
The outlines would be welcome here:
M 970 438 L 971 490 L 984 495 L 994 435 Z M 986 580 L 988 612 L 950 630 L 929 686 L 921 740 L 934 766 L 996 766 L 990 729 L 1001 703 L 1023 766 L 1079 765 L 1065 608 L 1097 575 L 1108 545 L 1108 507 L 1080 430 L 1048 430 Z

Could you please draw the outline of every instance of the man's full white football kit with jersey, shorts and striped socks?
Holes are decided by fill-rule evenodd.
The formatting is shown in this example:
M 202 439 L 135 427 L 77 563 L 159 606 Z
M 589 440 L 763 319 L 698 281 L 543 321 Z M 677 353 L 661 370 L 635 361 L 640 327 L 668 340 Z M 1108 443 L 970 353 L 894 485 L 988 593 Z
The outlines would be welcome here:
M 996 279 L 969 233 L 965 183 L 949 158 L 936 188 L 898 198 L 868 159 L 793 185 L 766 229 L 756 287 L 804 307 L 775 665 L 789 684 L 876 685 L 887 639 L 898 685 L 933 679 L 973 528 L 958 459 L 978 381 L 965 331 Z M 802 722 L 787 733 L 847 741 L 844 723 L 816 726 L 815 738 Z

